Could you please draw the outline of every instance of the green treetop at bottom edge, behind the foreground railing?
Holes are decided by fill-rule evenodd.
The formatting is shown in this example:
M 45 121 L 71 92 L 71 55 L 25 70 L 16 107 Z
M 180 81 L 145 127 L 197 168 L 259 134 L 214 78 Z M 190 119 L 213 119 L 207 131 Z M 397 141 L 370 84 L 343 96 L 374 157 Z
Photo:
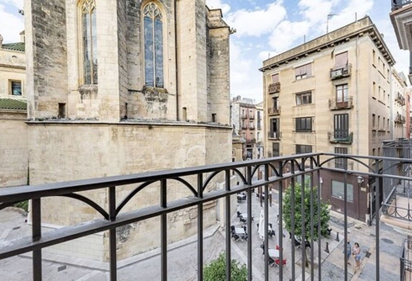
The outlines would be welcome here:
M 226 253 L 222 252 L 218 258 L 212 260 L 203 268 L 203 280 L 225 281 L 226 279 Z M 248 279 L 248 268 L 236 259 L 232 259 L 231 279 L 234 281 L 246 281 Z

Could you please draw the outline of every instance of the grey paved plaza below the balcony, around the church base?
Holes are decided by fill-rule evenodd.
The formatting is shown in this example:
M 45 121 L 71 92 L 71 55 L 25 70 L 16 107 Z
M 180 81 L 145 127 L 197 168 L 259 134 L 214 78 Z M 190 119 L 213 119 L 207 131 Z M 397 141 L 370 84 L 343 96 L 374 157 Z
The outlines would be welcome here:
M 262 240 L 258 237 L 256 223 L 259 221 L 261 210 L 260 202 L 256 194 L 252 194 L 252 223 L 251 231 L 248 231 L 249 239 L 252 239 L 253 279 L 263 280 L 265 263 L 263 250 L 260 247 Z M 269 207 L 269 222 L 273 224 L 276 235 L 269 237 L 269 247 L 274 248 L 278 243 L 277 224 L 277 194 L 273 193 L 272 206 Z M 238 203 L 238 211 L 246 213 L 246 201 Z M 332 234 L 322 240 L 322 280 L 342 280 L 344 276 L 343 256 L 343 216 L 332 212 L 330 227 Z M 30 226 L 25 222 L 26 215 L 15 208 L 0 211 L 0 243 L 28 235 Z M 349 279 L 373 280 L 375 276 L 375 226 L 367 226 L 365 223 L 348 218 L 348 235 L 352 242 L 358 242 L 361 247 L 361 267 L 354 270 L 355 261 L 350 260 L 348 265 Z M 243 226 L 237 215 L 232 217 L 232 225 Z M 340 239 L 336 240 L 339 232 Z M 291 251 L 295 251 L 295 276 L 301 280 L 301 249 L 291 247 L 289 234 L 285 231 L 283 238 L 283 258 L 286 265 L 283 267 L 284 280 L 291 278 Z M 380 274 L 382 280 L 396 280 L 399 277 L 399 254 L 402 249 L 404 234 L 397 233 L 391 227 L 380 225 Z M 324 251 L 326 242 L 329 243 L 329 251 Z M 224 229 L 216 225 L 204 231 L 204 262 L 208 263 L 225 249 Z M 317 263 L 318 244 L 314 247 L 315 262 Z M 307 252 L 310 258 L 310 250 Z M 242 263 L 247 262 L 247 242 L 234 241 L 232 239 L 232 258 Z M 109 280 L 109 264 L 67 257 L 58 254 L 43 253 L 44 280 Z M 0 276 L 2 280 L 30 280 L 31 277 L 30 254 L 23 254 L 13 258 L 0 260 Z M 127 260 L 118 262 L 119 280 L 159 280 L 160 279 L 160 255 L 159 250 L 152 250 L 139 254 Z M 168 275 L 169 280 L 196 280 L 197 268 L 197 243 L 196 236 L 169 245 Z M 318 264 L 315 264 L 315 279 L 318 279 Z M 310 279 L 310 268 L 306 268 L 305 279 Z M 269 279 L 277 280 L 279 268 L 269 266 Z

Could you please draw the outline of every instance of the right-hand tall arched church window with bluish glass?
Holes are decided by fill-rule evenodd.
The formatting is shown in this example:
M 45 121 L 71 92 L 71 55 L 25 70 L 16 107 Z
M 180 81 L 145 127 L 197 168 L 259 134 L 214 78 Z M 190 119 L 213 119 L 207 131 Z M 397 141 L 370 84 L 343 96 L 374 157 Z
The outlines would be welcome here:
M 163 17 L 154 3 L 143 9 L 145 42 L 145 85 L 164 87 L 163 82 Z

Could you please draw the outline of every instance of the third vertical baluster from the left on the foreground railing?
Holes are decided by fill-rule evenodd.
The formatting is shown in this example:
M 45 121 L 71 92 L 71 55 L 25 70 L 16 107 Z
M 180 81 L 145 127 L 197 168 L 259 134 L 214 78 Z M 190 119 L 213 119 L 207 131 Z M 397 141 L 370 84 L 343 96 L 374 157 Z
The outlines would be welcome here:
M 167 185 L 166 180 L 160 181 L 160 207 L 167 207 Z M 160 215 L 160 252 L 162 281 L 167 280 L 167 214 Z

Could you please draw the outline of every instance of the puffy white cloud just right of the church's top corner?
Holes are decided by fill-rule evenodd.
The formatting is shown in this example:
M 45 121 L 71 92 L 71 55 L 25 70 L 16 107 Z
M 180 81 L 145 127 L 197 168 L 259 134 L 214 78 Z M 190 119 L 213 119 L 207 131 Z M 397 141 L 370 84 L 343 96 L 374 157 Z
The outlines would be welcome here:
M 228 14 L 226 22 L 237 30 L 236 37 L 259 37 L 270 33 L 286 17 L 282 1 L 273 2 L 265 9 L 245 9 Z

